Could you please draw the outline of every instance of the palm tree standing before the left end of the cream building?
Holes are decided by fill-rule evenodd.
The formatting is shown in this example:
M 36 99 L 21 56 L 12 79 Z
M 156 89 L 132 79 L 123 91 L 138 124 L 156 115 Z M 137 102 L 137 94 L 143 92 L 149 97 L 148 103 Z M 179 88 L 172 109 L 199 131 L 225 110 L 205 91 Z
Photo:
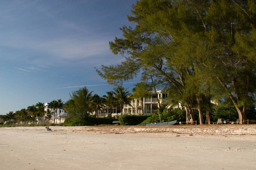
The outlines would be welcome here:
M 129 104 L 131 105 L 131 98 L 130 98 L 130 91 L 127 90 L 128 88 L 124 88 L 123 86 L 117 86 L 114 88 L 115 92 L 115 98 L 117 98 L 118 104 L 120 105 L 121 108 L 121 116 L 122 114 L 122 108 L 124 104 Z

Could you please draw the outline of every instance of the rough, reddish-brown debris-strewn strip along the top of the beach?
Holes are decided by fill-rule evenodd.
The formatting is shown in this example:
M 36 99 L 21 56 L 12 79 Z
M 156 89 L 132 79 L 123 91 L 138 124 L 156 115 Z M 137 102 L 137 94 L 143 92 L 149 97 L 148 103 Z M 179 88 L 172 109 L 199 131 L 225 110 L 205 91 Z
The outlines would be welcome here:
M 173 135 L 252 135 L 256 137 L 256 124 L 250 125 L 162 125 L 162 126 L 50 126 L 55 132 L 87 134 L 169 133 Z M 3 127 L 6 130 L 46 131 L 44 126 Z

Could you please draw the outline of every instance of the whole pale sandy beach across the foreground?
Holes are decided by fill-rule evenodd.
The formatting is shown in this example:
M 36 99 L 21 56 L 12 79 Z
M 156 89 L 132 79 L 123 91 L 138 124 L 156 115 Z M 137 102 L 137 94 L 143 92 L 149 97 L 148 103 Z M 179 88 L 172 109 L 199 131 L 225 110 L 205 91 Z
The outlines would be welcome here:
M 0 128 L 1 169 L 256 169 L 256 125 Z

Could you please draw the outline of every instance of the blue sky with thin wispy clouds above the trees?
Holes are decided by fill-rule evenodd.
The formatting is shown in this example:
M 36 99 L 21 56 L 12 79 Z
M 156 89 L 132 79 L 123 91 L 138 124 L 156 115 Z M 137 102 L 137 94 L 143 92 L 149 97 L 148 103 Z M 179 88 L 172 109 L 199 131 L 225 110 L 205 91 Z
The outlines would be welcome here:
M 0 1 L 0 114 L 38 102 L 67 101 L 86 86 L 93 94 L 113 90 L 96 73 L 121 56 L 109 41 L 122 37 L 136 0 Z M 123 86 L 131 91 L 133 82 Z M 100 85 L 100 86 L 99 86 Z

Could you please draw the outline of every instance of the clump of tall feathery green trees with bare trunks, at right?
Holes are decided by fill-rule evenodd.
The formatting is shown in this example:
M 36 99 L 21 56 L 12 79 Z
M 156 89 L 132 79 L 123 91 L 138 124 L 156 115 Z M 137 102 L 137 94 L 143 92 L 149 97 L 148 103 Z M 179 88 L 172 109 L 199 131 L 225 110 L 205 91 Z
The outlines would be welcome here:
M 109 42 L 125 61 L 98 74 L 110 84 L 153 75 L 192 122 L 197 108 L 200 124 L 204 106 L 228 96 L 242 124 L 255 104 L 255 1 L 141 0 L 132 8 L 135 28 L 123 26 L 123 38 Z

